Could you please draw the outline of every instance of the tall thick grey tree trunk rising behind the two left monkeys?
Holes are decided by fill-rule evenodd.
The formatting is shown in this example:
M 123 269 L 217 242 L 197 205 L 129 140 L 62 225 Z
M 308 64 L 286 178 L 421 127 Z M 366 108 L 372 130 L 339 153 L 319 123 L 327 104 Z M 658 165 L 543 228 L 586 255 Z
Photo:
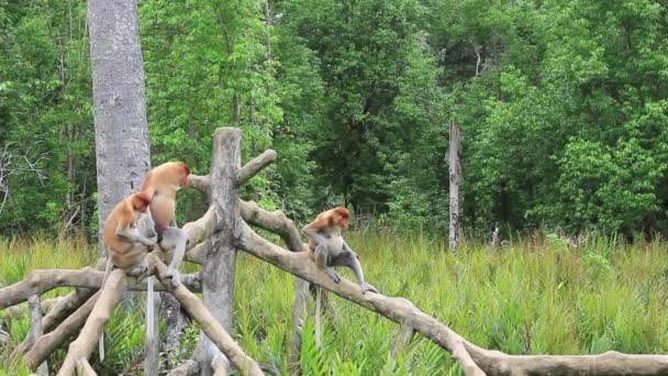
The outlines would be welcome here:
M 88 22 L 101 230 L 116 202 L 138 189 L 151 150 L 136 0 L 89 0 Z

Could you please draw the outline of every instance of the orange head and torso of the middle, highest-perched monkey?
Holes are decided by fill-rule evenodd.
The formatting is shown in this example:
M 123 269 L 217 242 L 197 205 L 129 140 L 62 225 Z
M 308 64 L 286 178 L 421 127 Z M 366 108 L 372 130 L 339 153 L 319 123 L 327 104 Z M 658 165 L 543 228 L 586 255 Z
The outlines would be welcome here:
M 151 214 L 158 235 L 168 226 L 176 226 L 176 192 L 190 186 L 190 168 L 182 162 L 167 162 L 153 168 L 144 177 L 141 191 L 151 197 Z

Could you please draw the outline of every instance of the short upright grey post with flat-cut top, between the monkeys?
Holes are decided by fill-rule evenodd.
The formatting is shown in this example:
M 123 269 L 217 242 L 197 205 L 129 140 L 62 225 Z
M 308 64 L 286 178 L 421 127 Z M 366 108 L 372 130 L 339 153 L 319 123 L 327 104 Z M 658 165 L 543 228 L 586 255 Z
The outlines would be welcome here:
M 203 301 L 211 314 L 232 332 L 234 273 L 236 264 L 235 234 L 240 218 L 236 176 L 241 168 L 242 132 L 238 129 L 216 130 L 211 158 L 211 203 L 220 215 L 220 232 L 211 236 L 212 247 L 202 267 Z M 227 362 L 202 332 L 194 351 L 200 375 L 211 375 L 220 362 Z

